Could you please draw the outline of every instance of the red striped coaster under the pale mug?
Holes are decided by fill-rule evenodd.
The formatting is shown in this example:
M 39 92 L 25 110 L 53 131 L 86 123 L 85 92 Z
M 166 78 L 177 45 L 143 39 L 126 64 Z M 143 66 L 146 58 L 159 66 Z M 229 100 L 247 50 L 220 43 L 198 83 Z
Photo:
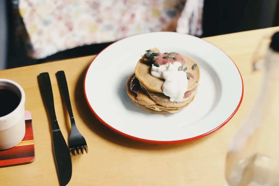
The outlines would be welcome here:
M 31 163 L 35 159 L 32 116 L 25 111 L 25 136 L 22 141 L 7 150 L 0 150 L 0 166 Z

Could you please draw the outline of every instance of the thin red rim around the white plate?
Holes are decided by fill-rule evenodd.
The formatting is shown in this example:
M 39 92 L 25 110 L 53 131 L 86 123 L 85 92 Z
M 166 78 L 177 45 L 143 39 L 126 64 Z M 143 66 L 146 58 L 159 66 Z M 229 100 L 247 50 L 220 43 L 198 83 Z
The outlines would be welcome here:
M 143 33 L 143 34 L 148 34 L 148 33 Z M 143 35 L 143 34 L 138 34 L 138 35 Z M 182 34 L 182 35 L 184 35 L 184 34 Z M 195 36 L 192 36 L 192 35 L 188 35 L 188 36 L 195 37 Z M 201 38 L 199 38 L 199 37 L 195 37 L 195 38 L 201 39 Z M 125 39 L 125 38 L 123 38 L 123 39 Z M 122 39 L 120 39 L 120 40 L 122 40 Z M 118 40 L 118 41 L 116 41 L 116 42 L 119 42 L 120 40 Z M 201 40 L 203 40 L 203 39 L 201 39 Z M 207 43 L 213 45 L 212 43 L 210 43 L 210 42 L 208 42 L 208 41 L 206 41 L 206 40 L 203 40 L 203 41 L 205 41 L 205 42 L 207 42 Z M 114 43 L 116 43 L 116 42 L 114 42 Z M 114 44 L 114 43 L 112 43 L 112 44 Z M 112 44 L 110 44 L 110 45 L 112 45 Z M 110 45 L 109 45 L 109 46 L 110 46 Z M 107 47 L 109 47 L 109 46 L 107 46 Z M 213 46 L 214 46 L 214 47 L 217 47 L 217 46 L 215 46 L 215 45 L 213 45 Z M 224 52 L 224 53 L 232 60 L 232 62 L 234 63 L 235 67 L 237 68 L 237 70 L 238 70 L 238 72 L 239 72 L 239 75 L 240 75 L 240 78 L 241 78 L 241 82 L 242 82 L 242 93 L 241 93 L 241 97 L 240 97 L 239 103 L 238 103 L 237 107 L 235 108 L 234 112 L 229 116 L 228 119 L 226 119 L 222 124 L 220 124 L 219 126 L 217 126 L 215 129 L 212 129 L 211 131 L 208 131 L 208 132 L 206 132 L 206 133 L 204 133 L 204 134 L 201 134 L 201 135 L 195 136 L 195 137 L 191 137 L 191 138 L 187 138 L 187 139 L 174 140 L 174 141 L 156 141 L 156 140 L 143 139 L 143 138 L 131 136 L 131 135 L 129 135 L 129 134 L 126 134 L 126 133 L 124 133 L 124 132 L 121 132 L 121 131 L 119 131 L 119 130 L 113 128 L 113 127 L 110 126 L 109 124 L 107 124 L 104 120 L 102 120 L 102 118 L 100 118 L 100 117 L 97 115 L 97 113 L 96 113 L 96 112 L 93 110 L 93 108 L 90 106 L 90 104 L 89 104 L 89 102 L 88 102 L 88 99 L 87 99 L 87 96 L 86 96 L 86 92 L 85 92 L 85 79 L 86 79 L 86 75 L 87 75 L 87 73 L 88 73 L 88 69 L 89 69 L 89 67 L 91 66 L 91 64 L 94 62 L 94 60 L 96 59 L 96 57 L 97 57 L 99 54 L 101 54 L 107 47 L 105 47 L 101 52 L 99 52 L 99 53 L 95 56 L 95 58 L 93 59 L 93 61 L 89 64 L 89 66 L 88 66 L 88 68 L 87 68 L 87 70 L 86 70 L 85 76 L 84 76 L 84 80 L 83 80 L 83 91 L 84 91 L 85 100 L 86 100 L 86 102 L 87 102 L 87 105 L 88 105 L 89 108 L 92 110 L 92 112 L 93 112 L 94 115 L 97 117 L 97 119 L 98 119 L 102 124 L 104 124 L 105 126 L 109 127 L 112 131 L 114 131 L 114 132 L 116 132 L 116 133 L 118 133 L 118 134 L 120 134 L 120 135 L 122 135 L 122 136 L 128 137 L 128 138 L 130 138 L 130 139 L 134 139 L 134 140 L 137 140 L 137 141 L 141 141 L 141 142 L 148 142 L 148 143 L 155 143 L 155 144 L 175 144 L 175 143 L 182 143 L 182 142 L 186 142 L 186 141 L 192 141 L 192 140 L 195 140 L 195 139 L 199 139 L 199 138 L 205 137 L 205 136 L 207 136 L 208 134 L 211 134 L 212 132 L 215 132 L 215 131 L 217 131 L 218 129 L 220 129 L 221 127 L 223 127 L 223 126 L 224 126 L 227 122 L 229 122 L 229 120 L 235 115 L 235 113 L 237 112 L 237 110 L 238 110 L 239 107 L 240 107 L 240 104 L 241 104 L 242 99 L 243 99 L 243 91 L 244 91 L 242 76 L 241 76 L 240 71 L 239 71 L 238 67 L 236 66 L 235 62 L 232 60 L 232 58 L 230 58 L 230 56 L 227 55 L 222 49 L 220 49 L 219 47 L 217 47 L 218 49 L 220 49 L 222 52 Z

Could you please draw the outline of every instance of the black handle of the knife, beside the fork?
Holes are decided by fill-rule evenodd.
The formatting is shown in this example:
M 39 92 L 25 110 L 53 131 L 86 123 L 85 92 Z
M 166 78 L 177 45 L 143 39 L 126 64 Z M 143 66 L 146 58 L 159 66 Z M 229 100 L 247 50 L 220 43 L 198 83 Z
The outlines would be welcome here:
M 49 73 L 40 73 L 39 75 L 39 81 L 40 81 L 40 88 L 42 90 L 45 103 L 47 105 L 47 109 L 49 110 L 49 116 L 51 120 L 52 125 L 52 131 L 59 129 L 59 125 L 56 119 L 56 114 L 54 110 L 54 100 L 53 100 L 53 93 L 51 88 L 51 82 L 49 78 Z

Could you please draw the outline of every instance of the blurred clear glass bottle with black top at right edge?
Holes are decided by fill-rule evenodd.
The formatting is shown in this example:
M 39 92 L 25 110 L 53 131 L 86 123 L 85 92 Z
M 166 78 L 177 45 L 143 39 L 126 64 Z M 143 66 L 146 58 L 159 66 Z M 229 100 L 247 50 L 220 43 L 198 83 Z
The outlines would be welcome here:
M 263 70 L 254 106 L 229 145 L 225 177 L 230 186 L 279 185 L 279 32 Z

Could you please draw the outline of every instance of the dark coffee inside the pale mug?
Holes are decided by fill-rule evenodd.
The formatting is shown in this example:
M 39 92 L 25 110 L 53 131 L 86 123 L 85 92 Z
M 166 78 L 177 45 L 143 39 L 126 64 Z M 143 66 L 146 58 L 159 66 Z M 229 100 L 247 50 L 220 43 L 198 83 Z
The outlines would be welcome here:
M 0 88 L 0 117 L 13 112 L 20 103 L 20 97 L 13 91 Z

